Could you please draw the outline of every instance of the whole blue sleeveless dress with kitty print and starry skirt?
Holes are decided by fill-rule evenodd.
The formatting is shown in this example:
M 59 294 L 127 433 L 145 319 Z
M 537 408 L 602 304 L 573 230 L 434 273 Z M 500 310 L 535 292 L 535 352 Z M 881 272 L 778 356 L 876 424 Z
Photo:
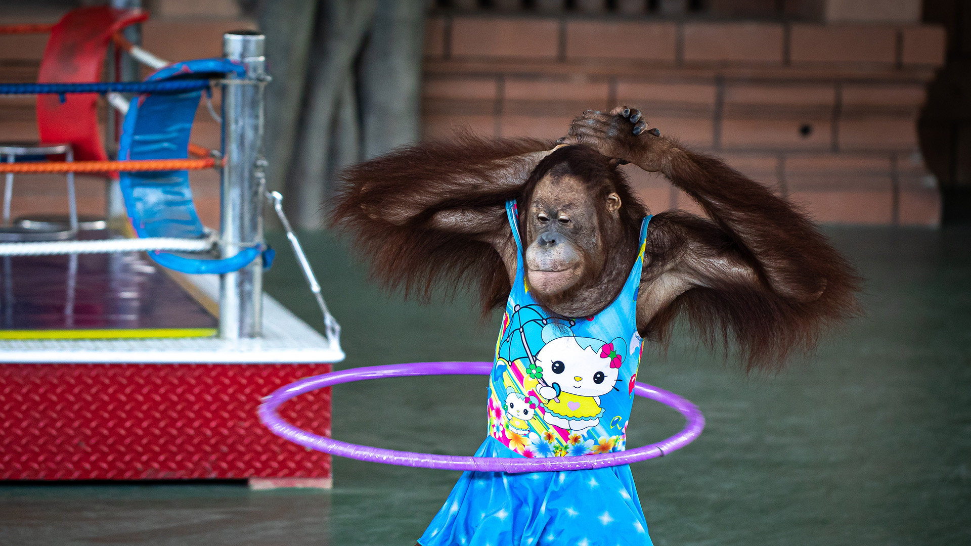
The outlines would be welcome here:
M 641 358 L 635 310 L 648 223 L 623 290 L 592 317 L 544 311 L 529 294 L 516 202 L 506 203 L 519 258 L 488 387 L 488 437 L 476 457 L 622 451 Z M 421 546 L 650 546 L 627 465 L 562 472 L 464 472 Z

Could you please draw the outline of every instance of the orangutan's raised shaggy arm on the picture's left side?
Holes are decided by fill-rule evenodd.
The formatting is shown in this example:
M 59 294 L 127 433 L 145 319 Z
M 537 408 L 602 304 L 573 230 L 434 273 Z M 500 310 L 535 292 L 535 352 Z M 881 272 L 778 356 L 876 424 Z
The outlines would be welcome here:
M 485 315 L 509 292 L 505 203 L 552 147 L 460 134 L 394 150 L 344 171 L 331 226 L 388 289 L 427 300 L 435 286 L 476 288 Z

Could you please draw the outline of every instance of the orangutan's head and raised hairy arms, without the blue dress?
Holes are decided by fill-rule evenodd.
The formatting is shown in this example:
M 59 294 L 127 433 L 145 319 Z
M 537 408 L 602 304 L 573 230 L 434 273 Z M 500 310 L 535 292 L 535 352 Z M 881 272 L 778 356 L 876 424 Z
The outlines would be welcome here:
M 685 316 L 708 344 L 734 339 L 747 369 L 781 367 L 826 326 L 858 312 L 859 278 L 805 214 L 718 158 L 647 129 L 642 114 L 586 111 L 567 136 L 425 142 L 344 173 L 333 225 L 389 288 L 427 298 L 478 290 L 501 307 L 519 259 L 504 203 L 515 199 L 526 282 L 563 317 L 596 315 L 621 290 L 638 252 L 638 202 L 621 163 L 659 172 L 707 218 L 653 216 L 637 329 L 665 342 Z

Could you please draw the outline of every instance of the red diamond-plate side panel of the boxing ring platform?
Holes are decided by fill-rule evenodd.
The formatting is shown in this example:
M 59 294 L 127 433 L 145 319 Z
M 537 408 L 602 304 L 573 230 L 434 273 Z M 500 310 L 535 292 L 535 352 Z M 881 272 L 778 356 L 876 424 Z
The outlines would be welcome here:
M 0 364 L 0 479 L 246 478 L 326 487 L 330 456 L 260 425 L 260 397 L 330 364 Z M 282 407 L 330 434 L 330 390 Z

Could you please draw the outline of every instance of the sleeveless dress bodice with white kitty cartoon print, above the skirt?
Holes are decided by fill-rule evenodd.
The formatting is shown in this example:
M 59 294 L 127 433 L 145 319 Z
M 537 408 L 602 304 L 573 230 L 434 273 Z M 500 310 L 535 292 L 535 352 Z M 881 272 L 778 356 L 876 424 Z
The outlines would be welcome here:
M 515 201 L 506 205 L 520 259 L 489 381 L 489 435 L 524 457 L 620 451 L 641 337 L 635 309 L 650 217 L 623 290 L 592 317 L 560 317 L 529 293 Z M 525 413 L 523 413 L 525 412 Z

